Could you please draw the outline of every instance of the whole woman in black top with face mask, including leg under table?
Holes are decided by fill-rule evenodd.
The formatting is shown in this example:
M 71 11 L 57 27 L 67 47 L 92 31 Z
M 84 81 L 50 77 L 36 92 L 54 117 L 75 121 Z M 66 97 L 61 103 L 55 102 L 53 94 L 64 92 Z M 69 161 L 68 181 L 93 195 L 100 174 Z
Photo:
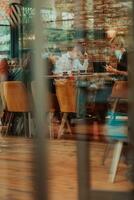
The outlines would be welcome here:
M 110 45 L 112 54 L 109 60 L 110 64 L 106 66 L 106 72 L 114 74 L 118 80 L 127 80 L 127 51 L 123 37 L 116 36 L 110 41 Z M 102 123 L 105 123 L 105 116 L 108 111 L 108 98 L 112 92 L 113 85 L 114 81 L 106 82 L 104 88 L 100 89 L 95 97 L 97 105 L 96 115 Z

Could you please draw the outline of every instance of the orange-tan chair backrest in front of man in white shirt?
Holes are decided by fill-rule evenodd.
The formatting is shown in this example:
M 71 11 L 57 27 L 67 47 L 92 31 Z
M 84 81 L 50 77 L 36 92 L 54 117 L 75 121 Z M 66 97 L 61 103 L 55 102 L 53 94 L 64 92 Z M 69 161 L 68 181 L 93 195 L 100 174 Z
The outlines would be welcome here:
M 76 112 L 76 83 L 74 80 L 55 80 L 56 95 L 61 112 Z

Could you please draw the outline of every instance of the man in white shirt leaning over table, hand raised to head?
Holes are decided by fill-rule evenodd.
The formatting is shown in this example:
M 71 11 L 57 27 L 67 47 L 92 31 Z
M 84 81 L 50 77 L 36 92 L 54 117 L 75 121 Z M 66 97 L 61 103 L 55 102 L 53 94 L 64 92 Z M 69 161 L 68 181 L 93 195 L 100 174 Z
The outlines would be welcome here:
M 71 48 L 67 53 L 57 59 L 54 73 L 60 74 L 63 72 L 70 73 L 72 71 L 87 70 L 88 59 L 85 53 L 85 48 L 79 44 Z M 83 63 L 81 63 L 81 60 Z

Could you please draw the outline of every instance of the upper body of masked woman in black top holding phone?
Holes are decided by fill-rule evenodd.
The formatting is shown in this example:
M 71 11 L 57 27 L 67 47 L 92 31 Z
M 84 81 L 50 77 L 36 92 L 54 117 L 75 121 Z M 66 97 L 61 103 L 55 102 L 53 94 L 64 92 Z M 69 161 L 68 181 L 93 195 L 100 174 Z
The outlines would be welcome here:
M 127 76 L 127 50 L 123 37 L 118 36 L 111 41 L 111 49 L 117 58 L 117 68 L 106 66 L 106 71 L 122 77 Z

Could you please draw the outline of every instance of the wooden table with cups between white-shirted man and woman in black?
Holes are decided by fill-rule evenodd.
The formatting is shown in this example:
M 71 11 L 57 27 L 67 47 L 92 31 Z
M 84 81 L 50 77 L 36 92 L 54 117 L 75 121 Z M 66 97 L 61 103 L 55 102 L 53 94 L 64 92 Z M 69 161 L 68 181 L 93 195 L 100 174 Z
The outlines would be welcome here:
M 90 73 L 77 75 L 46 75 L 47 79 L 70 79 L 76 82 L 77 87 L 77 117 L 86 116 L 86 104 L 90 93 L 96 93 L 100 89 L 104 89 L 105 82 L 113 81 L 115 75 L 111 73 Z

